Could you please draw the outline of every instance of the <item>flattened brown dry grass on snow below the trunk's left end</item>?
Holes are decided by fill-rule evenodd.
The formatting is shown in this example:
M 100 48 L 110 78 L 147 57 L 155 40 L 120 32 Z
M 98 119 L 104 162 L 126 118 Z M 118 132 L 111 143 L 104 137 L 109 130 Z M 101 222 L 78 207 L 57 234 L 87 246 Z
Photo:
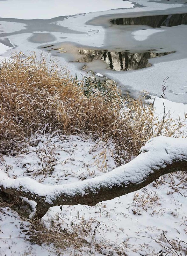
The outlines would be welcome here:
M 71 216 L 70 216 L 71 217 Z M 65 227 L 65 228 L 64 228 Z M 29 239 L 36 244 L 53 244 L 53 249 L 58 252 L 63 251 L 68 255 L 124 255 L 125 251 L 119 245 L 110 241 L 100 240 L 97 234 L 102 230 L 109 231 L 104 222 L 97 221 L 96 218 L 87 220 L 82 214 L 77 214 L 71 220 L 71 225 L 64 223 L 63 214 L 57 213 L 54 219 L 48 221 L 33 222 L 31 230 L 28 231 Z

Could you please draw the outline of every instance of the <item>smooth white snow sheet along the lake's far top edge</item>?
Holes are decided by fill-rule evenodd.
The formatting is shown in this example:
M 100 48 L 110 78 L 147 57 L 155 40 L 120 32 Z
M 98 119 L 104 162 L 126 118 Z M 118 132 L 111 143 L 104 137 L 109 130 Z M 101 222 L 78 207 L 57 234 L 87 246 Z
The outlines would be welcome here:
M 15 19 L 51 19 L 58 16 L 75 15 L 77 13 L 131 8 L 133 5 L 133 3 L 122 0 L 8 0 L 0 1 L 0 17 Z

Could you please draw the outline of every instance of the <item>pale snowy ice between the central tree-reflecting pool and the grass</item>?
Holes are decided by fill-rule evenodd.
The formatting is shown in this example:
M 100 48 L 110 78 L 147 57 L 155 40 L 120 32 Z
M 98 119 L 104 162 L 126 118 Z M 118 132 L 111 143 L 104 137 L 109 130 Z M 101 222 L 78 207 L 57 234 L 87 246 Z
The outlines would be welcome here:
M 166 56 L 159 58 L 165 57 Z M 149 63 L 154 63 L 155 61 L 154 59 L 149 59 Z M 138 97 L 140 91 L 147 91 L 150 95 L 162 95 L 163 79 L 169 75 L 169 80 L 166 84 L 166 86 L 168 85 L 168 89 L 165 98 L 172 102 L 183 102 L 187 104 L 187 90 L 184 87 L 187 81 L 186 66 L 187 59 L 185 58 L 156 63 L 148 68 L 125 72 L 123 75 L 118 72 L 113 72 L 111 76 L 108 71 L 103 71 L 103 74 L 108 78 L 119 81 L 119 88 L 124 92 L 132 92 L 132 97 Z

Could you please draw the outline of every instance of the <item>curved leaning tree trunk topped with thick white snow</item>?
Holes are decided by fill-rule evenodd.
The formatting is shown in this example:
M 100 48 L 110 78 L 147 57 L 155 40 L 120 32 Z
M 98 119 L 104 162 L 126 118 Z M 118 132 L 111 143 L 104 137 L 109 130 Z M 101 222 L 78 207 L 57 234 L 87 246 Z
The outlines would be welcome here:
M 155 137 L 129 163 L 90 180 L 65 185 L 43 185 L 31 178 L 9 178 L 0 172 L 0 190 L 37 203 L 37 218 L 52 206 L 96 205 L 139 190 L 161 175 L 187 171 L 187 138 Z

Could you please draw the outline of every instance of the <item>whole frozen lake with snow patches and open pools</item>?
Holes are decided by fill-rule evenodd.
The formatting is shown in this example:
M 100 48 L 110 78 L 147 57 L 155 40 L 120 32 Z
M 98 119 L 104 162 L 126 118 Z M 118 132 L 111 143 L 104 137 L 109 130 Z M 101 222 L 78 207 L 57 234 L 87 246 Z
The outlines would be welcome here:
M 160 96 L 169 76 L 166 98 L 186 104 L 186 13 L 183 0 L 0 0 L 0 58 L 43 51 L 72 75 L 103 74 L 132 97 Z

